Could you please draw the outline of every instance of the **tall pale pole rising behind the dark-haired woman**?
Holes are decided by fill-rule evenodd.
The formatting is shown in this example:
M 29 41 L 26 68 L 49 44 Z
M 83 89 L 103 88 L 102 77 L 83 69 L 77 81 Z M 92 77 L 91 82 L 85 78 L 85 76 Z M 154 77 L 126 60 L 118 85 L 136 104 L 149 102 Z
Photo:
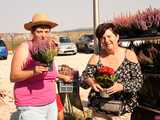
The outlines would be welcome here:
M 93 29 L 94 33 L 96 31 L 97 26 L 99 25 L 99 0 L 93 0 Z M 94 52 L 99 52 L 98 40 L 94 41 Z

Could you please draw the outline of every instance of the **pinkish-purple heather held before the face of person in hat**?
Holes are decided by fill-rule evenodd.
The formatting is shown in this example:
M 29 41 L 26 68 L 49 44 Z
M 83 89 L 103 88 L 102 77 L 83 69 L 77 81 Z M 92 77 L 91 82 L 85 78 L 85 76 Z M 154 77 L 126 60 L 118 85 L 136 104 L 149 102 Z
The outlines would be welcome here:
M 30 49 L 31 56 L 34 60 L 39 61 L 52 70 L 52 62 L 57 55 L 57 44 L 51 38 L 36 39 L 32 42 Z

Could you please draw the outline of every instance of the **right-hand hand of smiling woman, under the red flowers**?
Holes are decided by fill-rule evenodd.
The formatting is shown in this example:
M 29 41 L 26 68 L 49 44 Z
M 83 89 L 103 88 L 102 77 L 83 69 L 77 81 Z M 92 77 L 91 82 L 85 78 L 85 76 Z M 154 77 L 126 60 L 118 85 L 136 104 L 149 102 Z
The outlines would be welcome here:
M 109 95 L 122 91 L 123 90 L 123 85 L 121 83 L 117 83 L 115 82 L 113 86 L 104 89 L 104 91 L 106 91 L 106 93 L 108 93 Z

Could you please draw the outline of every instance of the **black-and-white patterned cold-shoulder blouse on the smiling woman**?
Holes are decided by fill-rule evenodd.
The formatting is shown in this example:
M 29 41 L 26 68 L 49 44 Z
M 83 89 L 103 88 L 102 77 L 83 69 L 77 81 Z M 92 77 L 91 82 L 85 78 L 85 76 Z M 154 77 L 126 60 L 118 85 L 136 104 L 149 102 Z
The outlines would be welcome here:
M 82 73 L 83 82 L 81 86 L 83 88 L 88 88 L 86 80 L 88 78 L 94 79 L 94 74 L 97 67 L 102 66 L 100 62 L 97 65 L 88 64 L 86 69 Z M 133 108 L 138 105 L 137 102 L 137 91 L 140 90 L 143 83 L 143 75 L 141 73 L 141 68 L 139 63 L 133 63 L 127 58 L 124 59 L 122 64 L 118 67 L 116 71 L 119 83 L 123 84 L 123 91 L 111 95 L 114 100 L 121 100 L 123 102 L 122 113 L 132 112 Z M 99 110 L 99 93 L 95 92 L 93 89 L 89 94 L 89 106 L 95 107 Z

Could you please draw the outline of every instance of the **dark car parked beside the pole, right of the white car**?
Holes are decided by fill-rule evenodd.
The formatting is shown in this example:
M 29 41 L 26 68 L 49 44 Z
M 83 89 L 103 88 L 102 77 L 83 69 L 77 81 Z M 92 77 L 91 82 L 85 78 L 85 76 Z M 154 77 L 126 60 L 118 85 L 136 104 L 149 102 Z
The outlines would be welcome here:
M 94 41 L 96 37 L 94 34 L 82 35 L 76 43 L 79 52 L 93 53 L 95 49 Z

